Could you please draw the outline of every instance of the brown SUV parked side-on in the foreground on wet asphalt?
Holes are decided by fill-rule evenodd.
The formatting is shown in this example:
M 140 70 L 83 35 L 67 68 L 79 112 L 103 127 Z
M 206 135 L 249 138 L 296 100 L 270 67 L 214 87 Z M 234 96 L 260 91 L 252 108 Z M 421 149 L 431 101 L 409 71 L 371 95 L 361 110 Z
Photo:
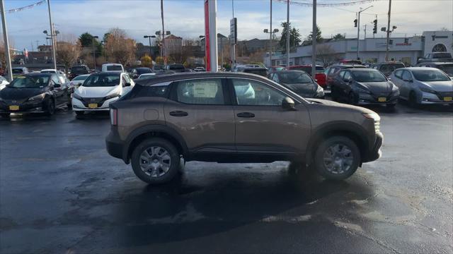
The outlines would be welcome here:
M 379 116 L 368 109 L 304 99 L 246 73 L 180 73 L 136 80 L 110 104 L 110 155 L 132 162 L 147 183 L 176 175 L 180 158 L 204 162 L 311 164 L 346 179 L 379 158 Z

